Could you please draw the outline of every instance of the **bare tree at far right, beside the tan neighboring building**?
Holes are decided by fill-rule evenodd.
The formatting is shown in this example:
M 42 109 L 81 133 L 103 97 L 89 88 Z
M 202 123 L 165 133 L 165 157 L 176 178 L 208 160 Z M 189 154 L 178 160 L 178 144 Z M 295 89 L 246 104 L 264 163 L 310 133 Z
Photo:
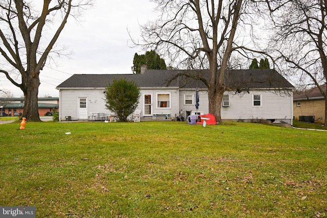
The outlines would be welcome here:
M 298 79 L 297 86 L 318 87 L 325 99 L 326 118 L 327 90 L 320 85 L 327 82 L 327 1 L 269 0 L 267 3 L 274 21 L 271 46 L 287 63 L 289 76 Z

